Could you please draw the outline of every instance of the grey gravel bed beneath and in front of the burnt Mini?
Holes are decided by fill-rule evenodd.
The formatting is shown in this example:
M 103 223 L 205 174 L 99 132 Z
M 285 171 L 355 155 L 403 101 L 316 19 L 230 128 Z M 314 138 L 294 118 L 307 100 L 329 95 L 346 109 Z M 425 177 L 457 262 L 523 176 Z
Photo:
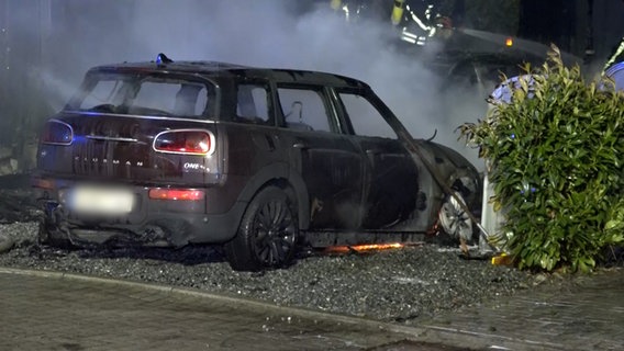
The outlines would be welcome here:
M 455 248 L 409 246 L 366 253 L 304 252 L 283 270 L 235 272 L 211 247 L 58 250 L 36 245 L 27 191 L 0 190 L 0 267 L 53 270 L 170 284 L 283 306 L 415 324 L 568 278 L 467 260 Z M 19 220 L 18 220 L 19 219 Z

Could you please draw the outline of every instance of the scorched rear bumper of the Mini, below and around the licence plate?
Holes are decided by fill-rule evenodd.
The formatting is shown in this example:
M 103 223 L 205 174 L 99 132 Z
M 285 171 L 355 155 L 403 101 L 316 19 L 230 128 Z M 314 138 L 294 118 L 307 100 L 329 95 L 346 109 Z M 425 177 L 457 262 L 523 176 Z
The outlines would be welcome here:
M 59 184 L 56 182 L 56 184 Z M 154 200 L 148 188 L 130 186 L 135 196 L 132 212 L 123 215 L 80 214 L 70 208 L 64 192 L 71 183 L 57 188 L 34 188 L 44 210 L 48 230 L 55 230 L 77 246 L 107 242 L 181 247 L 187 244 L 222 244 L 237 230 L 246 203 L 235 202 L 223 213 L 207 213 L 207 201 L 218 202 L 222 191 L 203 189 L 199 201 Z

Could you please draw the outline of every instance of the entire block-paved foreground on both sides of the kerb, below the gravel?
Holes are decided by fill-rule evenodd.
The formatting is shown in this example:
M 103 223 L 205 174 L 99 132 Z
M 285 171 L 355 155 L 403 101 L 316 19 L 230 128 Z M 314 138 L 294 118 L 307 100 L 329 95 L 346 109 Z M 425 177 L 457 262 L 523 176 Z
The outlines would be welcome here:
M 624 350 L 624 270 L 408 327 L 163 285 L 0 268 L 0 350 Z

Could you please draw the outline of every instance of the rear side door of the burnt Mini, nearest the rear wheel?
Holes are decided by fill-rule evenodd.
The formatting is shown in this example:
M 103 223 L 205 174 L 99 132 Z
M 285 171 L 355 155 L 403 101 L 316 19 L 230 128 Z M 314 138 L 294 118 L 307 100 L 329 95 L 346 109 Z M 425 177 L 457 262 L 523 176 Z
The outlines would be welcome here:
M 320 84 L 277 84 L 282 138 L 291 170 L 310 201 L 310 229 L 359 226 L 365 160 L 344 135 L 327 90 Z

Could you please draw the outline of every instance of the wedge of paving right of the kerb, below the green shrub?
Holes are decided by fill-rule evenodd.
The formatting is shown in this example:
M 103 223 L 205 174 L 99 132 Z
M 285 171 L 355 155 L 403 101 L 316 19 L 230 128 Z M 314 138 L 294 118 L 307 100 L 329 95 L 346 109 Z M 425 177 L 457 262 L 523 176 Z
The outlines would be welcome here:
M 515 350 L 624 350 L 624 270 L 438 316 L 422 326 Z

